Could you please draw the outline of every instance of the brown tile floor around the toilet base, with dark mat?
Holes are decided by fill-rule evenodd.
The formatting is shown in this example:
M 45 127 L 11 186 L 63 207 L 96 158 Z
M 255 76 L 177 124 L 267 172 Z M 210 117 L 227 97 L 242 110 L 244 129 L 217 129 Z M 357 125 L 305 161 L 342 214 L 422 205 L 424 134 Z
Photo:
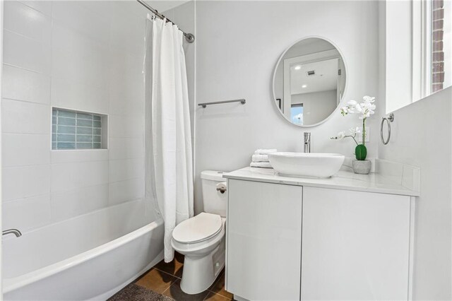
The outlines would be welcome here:
M 165 264 L 160 261 L 156 266 L 140 276 L 134 283 L 126 286 L 110 300 L 233 300 L 232 294 L 225 290 L 224 270 L 215 283 L 207 290 L 196 295 L 188 295 L 180 288 L 184 256 L 176 253 L 174 260 Z

